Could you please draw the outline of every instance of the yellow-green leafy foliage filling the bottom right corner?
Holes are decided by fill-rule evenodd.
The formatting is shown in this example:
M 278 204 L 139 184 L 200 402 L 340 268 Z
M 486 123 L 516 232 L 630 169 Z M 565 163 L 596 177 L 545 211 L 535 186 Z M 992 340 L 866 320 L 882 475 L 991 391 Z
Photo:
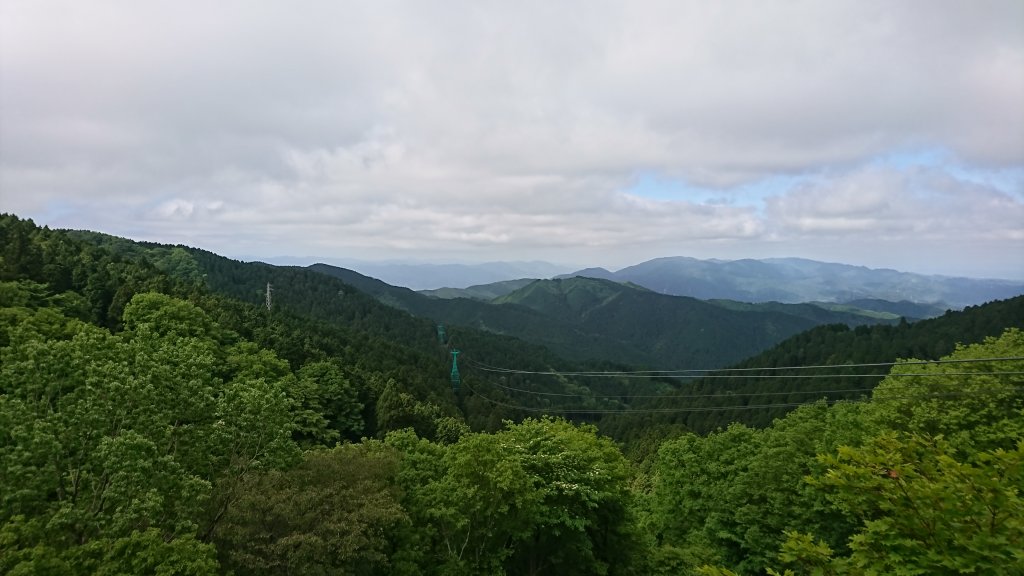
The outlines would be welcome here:
M 942 439 L 888 433 L 843 448 L 816 481 L 862 522 L 854 571 L 1024 572 L 1024 443 L 967 460 Z

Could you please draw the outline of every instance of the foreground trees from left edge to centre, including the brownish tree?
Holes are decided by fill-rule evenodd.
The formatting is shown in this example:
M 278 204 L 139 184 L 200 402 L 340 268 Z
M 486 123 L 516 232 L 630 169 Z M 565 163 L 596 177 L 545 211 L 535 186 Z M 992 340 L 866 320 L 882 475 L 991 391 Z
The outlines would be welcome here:
M 163 294 L 134 296 L 112 334 L 38 285 L 0 286 L 4 573 L 592 574 L 631 558 L 629 467 L 593 427 L 474 434 L 433 414 L 434 441 L 339 445 L 361 407 L 331 363 L 292 372 Z

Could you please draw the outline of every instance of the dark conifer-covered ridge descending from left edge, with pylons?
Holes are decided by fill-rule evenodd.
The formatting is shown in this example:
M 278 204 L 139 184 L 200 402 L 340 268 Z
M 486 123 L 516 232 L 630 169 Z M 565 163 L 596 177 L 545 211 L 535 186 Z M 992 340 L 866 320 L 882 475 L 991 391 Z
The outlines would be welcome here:
M 474 429 L 497 429 L 506 418 L 521 418 L 529 410 L 552 406 L 534 400 L 524 403 L 527 411 L 523 411 L 496 404 L 501 395 L 495 400 L 473 394 L 456 396 L 449 381 L 453 344 L 476 362 L 538 371 L 582 368 L 536 343 L 472 328 L 450 326 L 440 342 L 432 321 L 385 305 L 350 284 L 304 268 L 241 262 L 196 248 L 139 243 L 93 232 L 50 231 L 13 216 L 5 216 L 2 223 L 3 233 L 11 239 L 11 251 L 20 253 L 17 247 L 23 246 L 31 253 L 31 257 L 15 255 L 7 261 L 41 262 L 11 266 L 17 271 L 13 277 L 49 283 L 54 271 L 78 271 L 78 284 L 68 285 L 77 290 L 82 283 L 103 286 L 90 294 L 96 299 L 96 318 L 112 329 L 120 325 L 123 302 L 139 290 L 154 289 L 187 298 L 226 327 L 272 349 L 293 369 L 325 359 L 339 362 L 359 390 L 366 430 L 371 434 L 415 425 L 421 434 L 432 436 L 437 418 L 458 411 Z M 65 250 L 46 249 L 50 245 Z M 125 272 L 110 276 L 118 266 Z M 271 310 L 265 306 L 267 283 Z M 573 398 L 573 403 L 615 408 L 618 403 L 613 399 L 622 383 L 609 378 L 573 382 L 571 392 L 583 395 Z M 565 385 L 555 382 L 549 392 L 570 392 Z M 385 395 L 391 388 L 399 402 Z M 610 396 L 597 399 L 595 394 Z M 382 411 L 390 414 L 383 422 L 379 421 Z

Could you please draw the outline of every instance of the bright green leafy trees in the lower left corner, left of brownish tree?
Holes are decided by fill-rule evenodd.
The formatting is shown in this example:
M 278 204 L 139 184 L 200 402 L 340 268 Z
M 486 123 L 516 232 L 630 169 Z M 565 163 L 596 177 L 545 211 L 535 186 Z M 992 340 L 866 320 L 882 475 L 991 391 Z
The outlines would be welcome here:
M 45 308 L 6 329 L 0 558 L 15 560 L 5 571 L 50 558 L 103 573 L 111 553 L 134 550 L 150 564 L 117 570 L 159 572 L 162 554 L 212 549 L 194 539 L 236 486 L 296 455 L 280 380 L 258 356 L 225 362 L 232 336 L 181 300 L 139 295 L 124 317 L 116 335 Z

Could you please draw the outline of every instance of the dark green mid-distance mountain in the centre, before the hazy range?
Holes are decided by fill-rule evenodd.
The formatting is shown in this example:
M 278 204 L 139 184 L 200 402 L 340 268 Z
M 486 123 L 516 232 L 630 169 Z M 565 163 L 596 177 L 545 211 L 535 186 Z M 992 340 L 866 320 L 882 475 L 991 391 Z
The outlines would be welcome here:
M 509 291 L 489 301 L 445 299 L 346 269 L 328 264 L 310 269 L 341 279 L 382 302 L 451 326 L 456 346 L 462 326 L 542 344 L 571 360 L 600 359 L 653 368 L 725 366 L 822 324 L 899 322 L 899 315 L 882 310 L 703 301 L 579 277 L 505 283 L 502 288 Z M 481 288 L 473 292 L 484 293 Z

